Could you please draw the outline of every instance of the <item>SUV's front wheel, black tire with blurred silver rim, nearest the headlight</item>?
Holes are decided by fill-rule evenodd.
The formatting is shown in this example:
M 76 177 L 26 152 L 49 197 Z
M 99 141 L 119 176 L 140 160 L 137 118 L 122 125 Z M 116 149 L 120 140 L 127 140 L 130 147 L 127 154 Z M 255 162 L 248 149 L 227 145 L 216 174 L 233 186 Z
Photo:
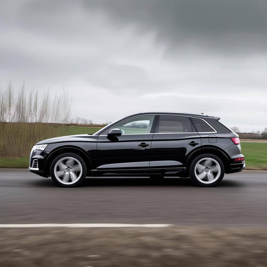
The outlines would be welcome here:
M 57 156 L 50 166 L 51 178 L 58 186 L 80 186 L 87 174 L 84 160 L 74 153 L 64 153 Z

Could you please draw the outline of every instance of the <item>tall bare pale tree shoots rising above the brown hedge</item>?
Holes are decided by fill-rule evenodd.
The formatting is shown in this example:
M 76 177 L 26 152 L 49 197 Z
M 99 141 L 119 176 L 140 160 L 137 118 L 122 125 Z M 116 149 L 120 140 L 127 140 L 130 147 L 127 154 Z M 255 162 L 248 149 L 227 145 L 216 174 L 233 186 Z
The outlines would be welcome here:
M 38 91 L 25 92 L 22 84 L 16 96 L 11 82 L 5 91 L 0 88 L 0 121 L 1 122 L 42 122 L 70 123 L 72 122 L 72 98 L 64 91 L 51 98 L 49 90 L 41 97 Z

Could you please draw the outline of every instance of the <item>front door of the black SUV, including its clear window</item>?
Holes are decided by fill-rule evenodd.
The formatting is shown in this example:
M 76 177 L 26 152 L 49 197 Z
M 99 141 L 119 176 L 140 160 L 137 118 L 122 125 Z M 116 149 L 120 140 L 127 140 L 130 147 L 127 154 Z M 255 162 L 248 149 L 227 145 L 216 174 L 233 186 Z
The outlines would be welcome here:
M 155 115 L 139 115 L 119 122 L 97 139 L 97 176 L 149 177 L 151 133 Z M 111 129 L 121 136 L 108 136 Z

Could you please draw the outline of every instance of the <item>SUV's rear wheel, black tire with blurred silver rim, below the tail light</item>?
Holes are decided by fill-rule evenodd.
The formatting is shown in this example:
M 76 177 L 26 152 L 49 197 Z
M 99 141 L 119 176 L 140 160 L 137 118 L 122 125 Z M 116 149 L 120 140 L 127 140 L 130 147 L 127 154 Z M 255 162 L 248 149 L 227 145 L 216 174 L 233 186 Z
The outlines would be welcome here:
M 222 160 L 213 154 L 197 156 L 190 164 L 189 177 L 196 186 L 215 186 L 223 179 Z

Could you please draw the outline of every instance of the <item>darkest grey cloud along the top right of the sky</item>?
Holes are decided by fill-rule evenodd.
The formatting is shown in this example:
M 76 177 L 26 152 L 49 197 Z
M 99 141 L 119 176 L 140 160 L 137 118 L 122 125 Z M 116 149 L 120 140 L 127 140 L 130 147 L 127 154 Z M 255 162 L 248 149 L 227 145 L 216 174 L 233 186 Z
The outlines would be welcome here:
M 198 47 L 223 53 L 266 50 L 267 2 L 250 0 L 84 1 L 118 25 L 155 31 L 171 49 Z

